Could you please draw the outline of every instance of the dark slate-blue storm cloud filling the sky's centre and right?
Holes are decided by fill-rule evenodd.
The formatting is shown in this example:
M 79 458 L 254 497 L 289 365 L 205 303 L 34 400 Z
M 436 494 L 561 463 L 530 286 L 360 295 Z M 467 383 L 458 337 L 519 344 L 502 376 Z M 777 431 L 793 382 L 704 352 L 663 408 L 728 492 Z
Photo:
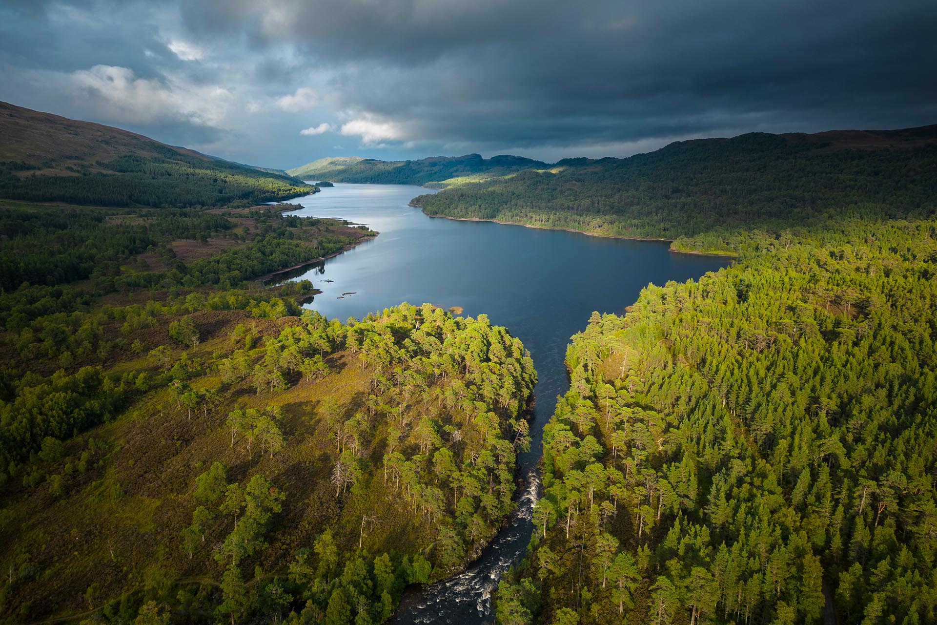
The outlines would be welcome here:
M 415 140 L 535 147 L 937 121 L 932 2 L 244 1 L 189 5 L 185 19 L 258 50 L 292 41 L 337 69 L 338 106 Z

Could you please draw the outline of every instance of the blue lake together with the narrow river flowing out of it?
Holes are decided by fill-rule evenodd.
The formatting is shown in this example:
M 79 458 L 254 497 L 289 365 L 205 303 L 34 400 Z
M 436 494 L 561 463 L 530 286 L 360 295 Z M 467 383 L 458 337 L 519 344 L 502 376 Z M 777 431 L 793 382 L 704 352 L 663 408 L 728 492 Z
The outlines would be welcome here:
M 504 325 L 530 350 L 540 383 L 528 454 L 528 476 L 507 528 L 466 573 L 409 592 L 397 623 L 483 623 L 493 620 L 490 595 L 498 578 L 523 557 L 537 496 L 543 424 L 569 384 L 563 358 L 570 337 L 593 310 L 623 313 L 648 282 L 662 285 L 718 271 L 729 260 L 674 254 L 663 242 L 628 241 L 425 216 L 409 201 L 432 192 L 419 186 L 335 185 L 294 200 L 294 215 L 340 217 L 379 231 L 373 241 L 294 273 L 322 290 L 306 305 L 326 317 L 360 319 L 409 302 L 462 306 Z M 324 280 L 332 280 L 325 282 Z M 341 297 L 342 293 L 353 292 Z

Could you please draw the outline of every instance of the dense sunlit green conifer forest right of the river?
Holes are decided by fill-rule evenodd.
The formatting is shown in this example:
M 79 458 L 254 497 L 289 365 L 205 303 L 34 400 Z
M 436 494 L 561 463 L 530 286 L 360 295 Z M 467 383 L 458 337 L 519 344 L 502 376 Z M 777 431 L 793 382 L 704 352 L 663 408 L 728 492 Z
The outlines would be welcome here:
M 593 313 L 498 622 L 934 622 L 935 278 L 843 220 Z

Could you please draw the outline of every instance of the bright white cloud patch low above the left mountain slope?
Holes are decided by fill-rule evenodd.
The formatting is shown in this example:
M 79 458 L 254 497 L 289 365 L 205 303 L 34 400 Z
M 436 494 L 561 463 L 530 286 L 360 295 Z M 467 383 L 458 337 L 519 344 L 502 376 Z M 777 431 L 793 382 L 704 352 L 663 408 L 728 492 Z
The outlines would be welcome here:
M 56 72 L 57 73 L 57 72 Z M 165 77 L 138 78 L 127 67 L 96 65 L 65 76 L 65 87 L 117 123 L 189 121 L 218 126 L 231 104 L 231 92 Z

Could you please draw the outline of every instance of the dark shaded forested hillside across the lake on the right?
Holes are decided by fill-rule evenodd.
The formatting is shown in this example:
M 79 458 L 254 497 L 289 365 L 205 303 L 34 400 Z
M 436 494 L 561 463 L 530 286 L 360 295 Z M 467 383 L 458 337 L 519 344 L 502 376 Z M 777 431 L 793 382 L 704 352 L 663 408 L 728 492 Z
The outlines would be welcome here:
M 924 126 L 680 141 L 629 158 L 565 159 L 547 170 L 465 181 L 413 204 L 431 216 L 737 252 L 744 231 L 841 216 L 929 216 L 935 198 L 937 126 Z

